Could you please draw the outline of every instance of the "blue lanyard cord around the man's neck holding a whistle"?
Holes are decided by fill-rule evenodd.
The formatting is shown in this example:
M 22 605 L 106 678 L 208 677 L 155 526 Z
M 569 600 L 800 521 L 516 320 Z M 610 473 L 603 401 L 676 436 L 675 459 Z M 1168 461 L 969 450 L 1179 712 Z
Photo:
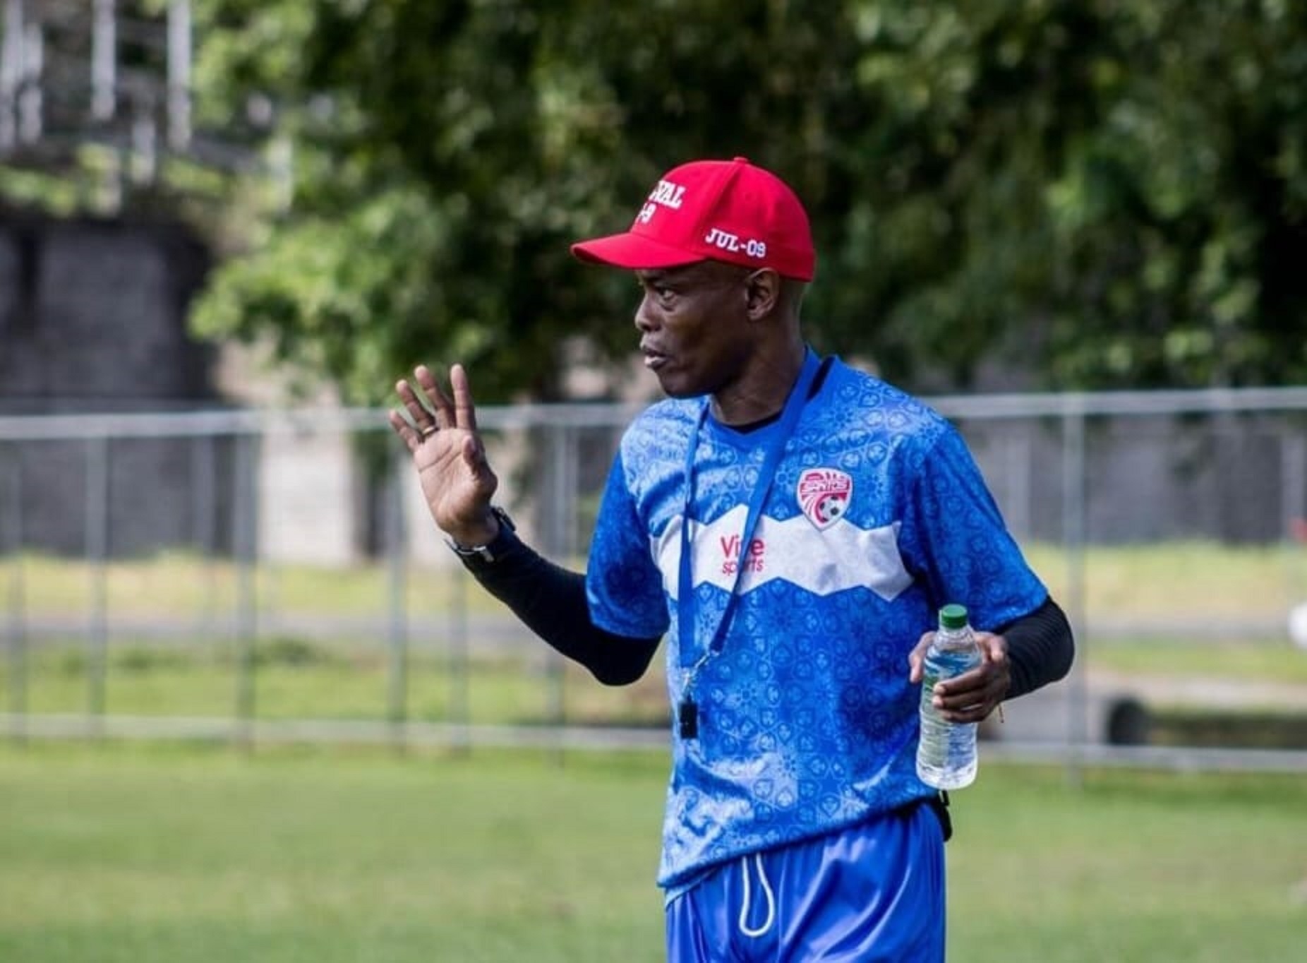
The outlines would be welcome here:
M 680 647 L 681 668 L 689 669 L 689 678 L 686 681 L 686 694 L 694 685 L 694 676 L 698 673 L 699 668 L 708 661 L 712 656 L 721 651 L 725 644 L 727 627 L 731 625 L 731 618 L 735 615 L 736 602 L 740 598 L 740 579 L 744 575 L 744 570 L 748 567 L 745 564 L 745 557 L 749 553 L 749 544 L 753 541 L 753 532 L 758 527 L 758 517 L 762 515 L 762 506 L 767 500 L 767 494 L 771 491 L 771 482 L 776 477 L 776 469 L 780 468 L 780 459 L 786 453 L 786 442 L 795 431 L 795 426 L 799 423 L 799 416 L 802 414 L 804 404 L 808 401 L 808 392 L 812 391 L 813 380 L 817 378 L 817 371 L 821 367 L 821 359 L 817 354 L 809 349 L 804 355 L 804 367 L 799 372 L 799 379 L 795 382 L 795 387 L 789 391 L 789 397 L 786 399 L 786 406 L 780 413 L 780 423 L 776 429 L 776 434 L 771 439 L 771 446 L 767 448 L 767 453 L 762 460 L 762 468 L 758 470 L 758 481 L 754 482 L 753 494 L 749 497 L 749 512 L 745 516 L 744 532 L 740 536 L 740 558 L 736 566 L 735 581 L 731 584 L 731 597 L 727 600 L 725 609 L 721 613 L 721 619 L 718 622 L 716 630 L 712 632 L 712 638 L 704 647 L 703 653 L 694 659 L 695 647 L 694 642 L 694 578 L 691 572 L 691 538 L 690 538 L 690 523 L 694 510 L 694 455 L 698 447 L 699 433 L 703 430 L 703 422 L 708 417 L 708 400 L 704 400 L 703 408 L 699 409 L 699 419 L 695 422 L 694 433 L 690 435 L 690 443 L 687 446 L 685 456 L 685 511 L 681 512 L 681 570 L 677 581 L 677 644 Z

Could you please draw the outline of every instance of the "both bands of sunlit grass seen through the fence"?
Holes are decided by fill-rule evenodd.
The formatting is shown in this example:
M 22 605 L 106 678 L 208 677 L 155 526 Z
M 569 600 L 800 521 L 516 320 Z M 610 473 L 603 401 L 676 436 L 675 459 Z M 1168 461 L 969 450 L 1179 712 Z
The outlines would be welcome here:
M 1033 546 L 1029 554 L 1065 601 L 1063 553 Z M 1307 597 L 1303 555 L 1290 544 L 1093 549 L 1085 566 L 1090 632 L 1080 639 L 1081 668 L 1138 679 L 1145 687 L 1150 678 L 1176 676 L 1307 686 L 1307 652 L 1280 631 L 1289 606 Z M 103 687 L 97 691 L 88 612 L 99 576 L 112 638 L 103 655 Z M 0 647 L 5 649 L 0 712 L 78 713 L 94 707 L 125 715 L 231 717 L 238 694 L 247 691 L 261 719 L 387 719 L 397 690 L 386 636 L 384 566 L 348 571 L 269 566 L 254 580 L 260 638 L 254 645 L 256 678 L 244 689 L 238 642 L 230 626 L 216 631 L 214 625 L 230 621 L 238 596 L 239 574 L 230 563 L 173 554 L 115 562 L 97 575 L 77 561 L 0 558 L 0 581 L 7 583 L 0 643 L 9 642 L 16 613 L 31 636 L 21 660 L 13 645 Z M 5 612 L 20 595 L 21 606 Z M 400 690 L 408 719 L 531 724 L 557 719 L 559 711 L 579 723 L 648 724 L 665 717 L 657 665 L 638 686 L 614 693 L 584 673 L 565 678 L 555 668 L 546 669 L 544 647 L 525 630 L 511 659 L 503 657 L 505 649 L 488 655 L 476 638 L 477 626 L 488 619 L 511 623 L 511 615 L 459 571 L 412 571 L 404 595 L 414 622 Z M 465 662 L 451 656 L 448 619 L 455 609 L 471 619 Z M 297 618 L 333 628 L 336 638 L 324 642 L 307 630 L 295 634 L 284 627 Z M 367 619 L 369 628 L 341 628 Z M 1153 628 L 1136 638 L 1093 631 L 1104 621 L 1132 619 Z M 1195 623 L 1235 627 L 1196 640 L 1184 631 Z M 63 625 L 65 635 L 52 634 L 51 625 Z M 171 626 L 174 635 L 136 638 L 123 627 L 133 625 Z M 1249 632 L 1240 625 L 1270 628 Z M 44 632 L 38 631 L 42 626 Z M 542 678 L 546 672 L 554 674 Z

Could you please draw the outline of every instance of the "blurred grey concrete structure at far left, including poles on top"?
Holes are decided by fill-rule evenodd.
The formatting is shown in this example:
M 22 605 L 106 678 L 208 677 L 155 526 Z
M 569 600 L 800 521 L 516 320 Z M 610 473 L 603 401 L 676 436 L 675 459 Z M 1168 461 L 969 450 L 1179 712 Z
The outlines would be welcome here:
M 169 165 L 257 169 L 267 129 L 192 124 L 192 52 L 188 0 L 0 0 L 0 416 L 223 404 L 214 350 L 187 332 L 209 252 L 156 212 L 178 209 Z M 29 549 L 86 551 L 88 473 L 102 472 L 101 549 L 226 550 L 234 493 L 254 483 L 234 477 L 231 447 L 0 442 L 0 490 L 16 506 L 0 529 Z

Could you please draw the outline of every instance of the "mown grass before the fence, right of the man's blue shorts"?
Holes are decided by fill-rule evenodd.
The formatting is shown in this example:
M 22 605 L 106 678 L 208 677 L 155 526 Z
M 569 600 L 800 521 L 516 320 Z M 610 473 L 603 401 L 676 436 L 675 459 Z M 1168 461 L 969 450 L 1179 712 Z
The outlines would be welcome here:
M 958 956 L 1300 958 L 1300 777 L 1093 774 L 1073 793 L 1038 774 L 987 775 L 957 794 L 962 810 L 976 802 L 979 823 L 959 814 L 951 849 Z M 974 955 L 983 946 L 1006 949 Z

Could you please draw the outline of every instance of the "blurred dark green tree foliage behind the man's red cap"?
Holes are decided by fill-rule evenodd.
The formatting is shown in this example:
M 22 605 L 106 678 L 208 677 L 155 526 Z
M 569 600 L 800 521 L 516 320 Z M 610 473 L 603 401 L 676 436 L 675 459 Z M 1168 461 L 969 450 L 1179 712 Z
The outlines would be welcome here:
M 569 243 L 735 154 L 809 204 L 812 338 L 908 387 L 1307 378 L 1302 4 L 204 0 L 196 24 L 197 116 L 265 98 L 297 176 L 197 329 L 352 401 L 417 361 L 550 399 L 567 338 L 629 355 L 629 280 Z

